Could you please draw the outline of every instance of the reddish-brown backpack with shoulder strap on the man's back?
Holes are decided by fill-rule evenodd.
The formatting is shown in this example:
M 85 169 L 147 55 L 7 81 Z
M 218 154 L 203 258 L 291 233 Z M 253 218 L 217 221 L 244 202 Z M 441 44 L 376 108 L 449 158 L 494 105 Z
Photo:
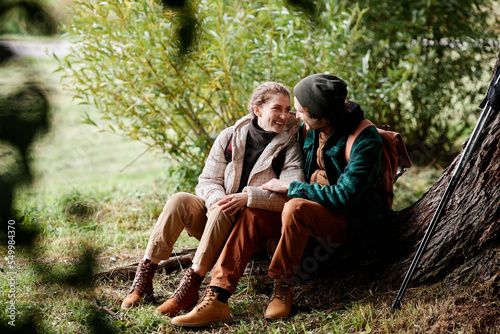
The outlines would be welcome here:
M 347 138 L 347 143 L 345 147 L 345 158 L 349 161 L 352 145 L 358 137 L 358 135 L 367 127 L 375 126 L 372 122 L 364 119 L 360 122 L 353 134 L 349 135 Z M 393 185 L 396 180 L 403 175 L 406 168 L 410 168 L 412 162 L 406 146 L 403 142 L 401 134 L 388 131 L 388 127 L 378 128 L 378 133 L 382 137 L 382 188 L 386 198 L 386 204 L 388 208 L 392 208 L 392 200 L 394 198 Z

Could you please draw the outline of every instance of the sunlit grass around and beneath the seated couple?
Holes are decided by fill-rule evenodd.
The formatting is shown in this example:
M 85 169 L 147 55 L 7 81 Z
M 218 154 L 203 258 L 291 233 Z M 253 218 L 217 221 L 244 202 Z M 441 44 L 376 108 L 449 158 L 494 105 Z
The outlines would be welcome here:
M 61 91 L 51 74 L 55 64 L 41 60 L 43 75 L 53 91 L 52 130 L 37 142 L 33 151 L 36 181 L 21 189 L 16 208 L 41 231 L 35 252 L 38 264 L 55 273 L 71 273 L 85 246 L 97 251 L 97 270 L 135 262 L 142 256 L 149 231 L 165 200 L 176 188 L 168 178 L 168 163 L 153 152 L 128 164 L 146 147 L 117 135 L 102 133 L 82 124 L 87 106 L 78 106 Z M 125 168 L 126 167 L 126 168 Z M 441 172 L 429 168 L 410 169 L 397 183 L 396 208 L 418 200 Z M 196 246 L 183 234 L 177 248 Z M 5 251 L 2 249 L 2 255 Z M 92 323 L 104 322 L 124 333 L 181 333 L 168 318 L 154 313 L 155 303 L 145 303 L 126 313 L 119 311 L 129 281 L 93 281 L 85 277 L 83 288 L 75 288 L 41 275 L 26 252 L 16 254 L 18 317 L 37 310 L 44 333 L 90 333 Z M 0 273 L 0 288 L 9 291 L 6 275 Z M 157 275 L 155 291 L 161 302 L 175 290 L 178 272 Z M 86 283 L 88 286 L 85 286 Z M 308 282 L 309 286 L 314 282 Z M 324 288 L 324 287 L 323 287 Z M 315 293 L 321 294 L 322 287 Z M 449 290 L 444 283 L 411 289 L 399 312 L 390 304 L 394 291 L 369 289 L 334 291 L 328 303 L 309 302 L 298 287 L 295 314 L 277 322 L 263 320 L 262 311 L 270 294 L 270 281 L 246 276 L 230 299 L 233 322 L 199 333 L 498 333 L 491 305 L 498 303 L 491 289 L 473 286 Z M 338 294 L 338 295 L 337 295 Z M 347 300 L 347 301 L 346 301 Z M 0 307 L 5 309 L 5 298 Z M 104 315 L 93 312 L 106 308 Z M 494 308 L 493 308 L 494 310 Z M 471 312 L 477 319 L 470 319 Z M 114 314 L 114 315 L 111 315 Z M 5 317 L 2 313 L 0 318 Z M 493 319 L 493 320 L 489 320 Z

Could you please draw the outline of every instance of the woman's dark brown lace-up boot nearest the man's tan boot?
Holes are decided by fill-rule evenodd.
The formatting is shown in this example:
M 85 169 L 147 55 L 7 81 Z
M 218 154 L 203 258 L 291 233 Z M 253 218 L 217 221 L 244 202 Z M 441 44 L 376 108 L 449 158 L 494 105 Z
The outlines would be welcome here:
M 182 276 L 174 295 L 158 306 L 156 310 L 169 317 L 175 317 L 180 311 L 192 309 L 200 298 L 198 289 L 201 282 L 203 282 L 203 277 L 195 273 L 193 268 L 189 268 Z

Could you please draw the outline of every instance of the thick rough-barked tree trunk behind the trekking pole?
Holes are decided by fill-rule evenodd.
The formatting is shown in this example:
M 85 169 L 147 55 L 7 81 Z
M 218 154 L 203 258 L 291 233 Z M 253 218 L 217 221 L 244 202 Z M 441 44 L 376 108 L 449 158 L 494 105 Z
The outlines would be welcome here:
M 499 269 L 500 117 L 498 112 L 478 138 L 441 220 L 422 256 L 412 285 L 451 275 L 462 282 L 488 279 Z M 450 182 L 456 157 L 417 203 L 397 213 L 396 253 L 387 276 L 401 281 Z

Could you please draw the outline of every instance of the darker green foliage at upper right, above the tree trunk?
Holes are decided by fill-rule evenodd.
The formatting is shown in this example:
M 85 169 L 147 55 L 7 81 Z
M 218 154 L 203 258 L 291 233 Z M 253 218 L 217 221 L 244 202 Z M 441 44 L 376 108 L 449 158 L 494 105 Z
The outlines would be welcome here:
M 417 163 L 460 149 L 491 80 L 499 18 L 491 0 L 359 0 L 368 50 L 356 98 L 404 133 Z M 498 4 L 497 4 L 498 6 Z

